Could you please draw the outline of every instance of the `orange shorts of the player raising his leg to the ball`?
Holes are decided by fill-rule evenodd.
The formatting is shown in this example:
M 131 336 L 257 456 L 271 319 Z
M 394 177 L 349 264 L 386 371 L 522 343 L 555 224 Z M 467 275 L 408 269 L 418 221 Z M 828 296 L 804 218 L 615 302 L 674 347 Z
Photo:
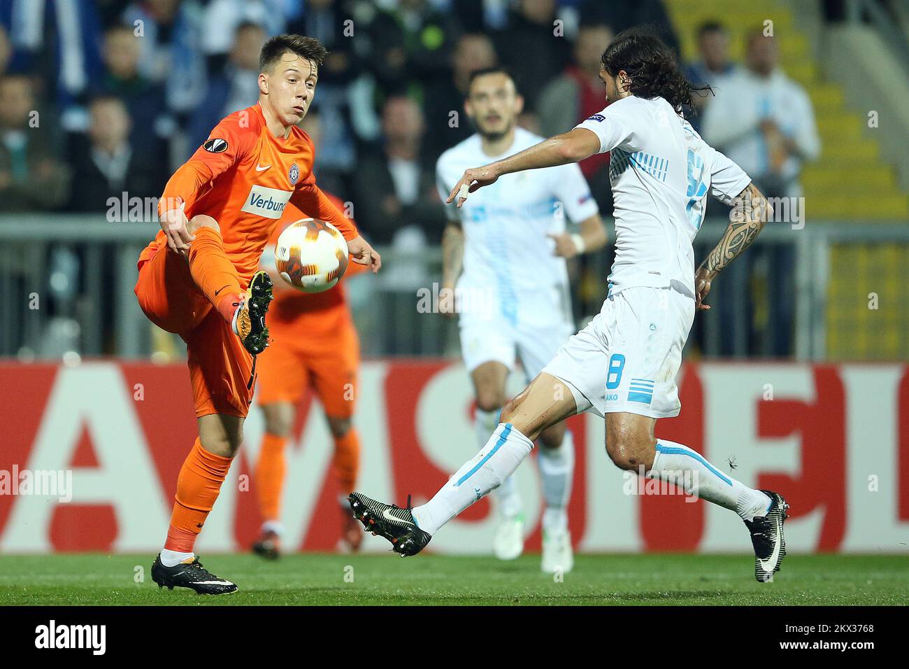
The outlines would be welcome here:
M 253 357 L 196 287 L 185 258 L 166 247 L 155 251 L 139 268 L 135 296 L 149 320 L 186 342 L 196 418 L 245 417 L 253 399 L 254 389 L 246 388 Z

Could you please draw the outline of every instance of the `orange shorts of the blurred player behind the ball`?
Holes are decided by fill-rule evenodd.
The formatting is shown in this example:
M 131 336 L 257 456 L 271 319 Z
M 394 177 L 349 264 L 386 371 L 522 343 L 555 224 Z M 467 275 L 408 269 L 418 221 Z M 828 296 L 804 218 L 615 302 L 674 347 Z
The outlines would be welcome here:
M 349 319 L 339 319 L 331 335 L 313 337 L 295 323 L 270 321 L 271 345 L 256 366 L 259 404 L 295 404 L 310 385 L 332 418 L 351 418 L 356 397 L 360 339 Z M 308 336 L 307 336 L 308 330 Z

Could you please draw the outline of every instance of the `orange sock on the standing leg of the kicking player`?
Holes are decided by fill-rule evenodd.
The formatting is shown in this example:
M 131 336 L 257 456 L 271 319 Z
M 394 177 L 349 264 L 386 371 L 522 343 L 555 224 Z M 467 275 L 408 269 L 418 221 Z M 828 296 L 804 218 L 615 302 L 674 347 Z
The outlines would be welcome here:
M 230 458 L 205 451 L 196 438 L 176 481 L 174 512 L 167 530 L 166 550 L 193 552 L 195 538 L 215 505 L 231 462 Z

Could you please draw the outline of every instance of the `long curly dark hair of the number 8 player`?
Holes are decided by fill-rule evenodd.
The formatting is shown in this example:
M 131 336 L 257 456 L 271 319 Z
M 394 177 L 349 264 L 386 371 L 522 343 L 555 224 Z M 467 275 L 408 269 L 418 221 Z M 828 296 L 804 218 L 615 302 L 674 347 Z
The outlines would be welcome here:
M 692 86 L 679 69 L 674 51 L 649 28 L 629 28 L 615 36 L 600 59 L 610 76 L 624 70 L 630 92 L 638 97 L 662 97 L 681 112 L 692 106 L 693 93 L 706 95 L 710 86 Z

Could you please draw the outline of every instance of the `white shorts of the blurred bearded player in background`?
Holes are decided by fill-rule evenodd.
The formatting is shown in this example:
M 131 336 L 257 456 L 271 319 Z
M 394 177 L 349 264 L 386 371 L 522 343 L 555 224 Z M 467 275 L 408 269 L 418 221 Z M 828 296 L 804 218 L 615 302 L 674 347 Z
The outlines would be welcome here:
M 521 360 L 528 381 L 543 370 L 574 332 L 574 325 L 567 320 L 541 328 L 514 325 L 499 316 L 474 318 L 466 314 L 462 314 L 459 326 L 461 355 L 468 372 L 491 361 L 514 371 L 515 362 Z

